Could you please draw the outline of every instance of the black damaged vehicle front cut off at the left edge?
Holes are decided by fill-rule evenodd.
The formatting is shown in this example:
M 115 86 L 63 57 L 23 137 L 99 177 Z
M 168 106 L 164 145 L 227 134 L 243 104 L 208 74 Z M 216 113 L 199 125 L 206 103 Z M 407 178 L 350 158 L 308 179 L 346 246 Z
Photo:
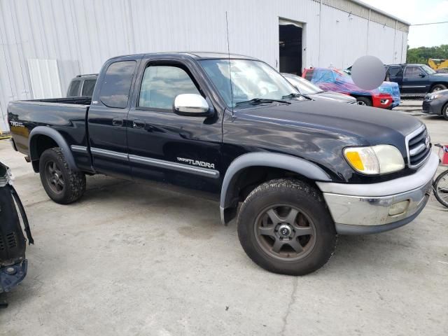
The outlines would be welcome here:
M 27 239 L 18 213 L 29 244 L 34 244 L 25 209 L 12 185 L 11 176 L 10 169 L 0 162 L 0 293 L 9 292 L 27 275 Z

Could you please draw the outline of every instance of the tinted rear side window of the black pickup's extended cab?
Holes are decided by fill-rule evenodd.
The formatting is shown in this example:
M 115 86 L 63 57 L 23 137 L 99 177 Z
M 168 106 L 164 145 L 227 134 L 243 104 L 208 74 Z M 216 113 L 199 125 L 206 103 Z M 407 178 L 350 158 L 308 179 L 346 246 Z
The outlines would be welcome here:
M 99 100 L 104 105 L 117 109 L 127 106 L 136 64 L 135 61 L 119 61 L 109 65 L 99 92 Z

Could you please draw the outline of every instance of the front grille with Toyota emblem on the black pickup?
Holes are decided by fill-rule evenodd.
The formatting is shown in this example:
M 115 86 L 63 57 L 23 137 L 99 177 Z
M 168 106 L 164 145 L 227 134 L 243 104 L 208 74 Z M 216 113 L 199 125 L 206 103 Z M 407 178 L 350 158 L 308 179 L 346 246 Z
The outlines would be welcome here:
M 430 139 L 426 127 L 421 126 L 406 137 L 406 149 L 409 168 L 423 165 L 431 152 Z

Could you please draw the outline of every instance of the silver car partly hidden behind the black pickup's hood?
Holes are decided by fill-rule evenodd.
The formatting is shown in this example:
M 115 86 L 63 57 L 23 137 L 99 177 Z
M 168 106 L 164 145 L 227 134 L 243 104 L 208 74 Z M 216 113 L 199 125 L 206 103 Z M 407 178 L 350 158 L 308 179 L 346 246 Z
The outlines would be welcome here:
M 327 100 L 331 102 L 340 102 L 348 104 L 356 104 L 356 98 L 348 94 L 339 92 L 323 91 L 320 87 L 314 85 L 309 80 L 292 73 L 282 73 L 283 77 L 288 80 L 301 94 L 314 100 Z

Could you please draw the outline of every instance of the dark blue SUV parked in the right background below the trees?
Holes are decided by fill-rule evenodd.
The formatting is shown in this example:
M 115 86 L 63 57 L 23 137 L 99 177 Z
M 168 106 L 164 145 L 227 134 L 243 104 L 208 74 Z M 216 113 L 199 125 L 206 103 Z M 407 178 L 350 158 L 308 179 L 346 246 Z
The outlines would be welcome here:
M 402 94 L 426 94 L 448 88 L 448 73 L 437 73 L 426 64 L 386 65 L 386 80 L 397 83 Z

